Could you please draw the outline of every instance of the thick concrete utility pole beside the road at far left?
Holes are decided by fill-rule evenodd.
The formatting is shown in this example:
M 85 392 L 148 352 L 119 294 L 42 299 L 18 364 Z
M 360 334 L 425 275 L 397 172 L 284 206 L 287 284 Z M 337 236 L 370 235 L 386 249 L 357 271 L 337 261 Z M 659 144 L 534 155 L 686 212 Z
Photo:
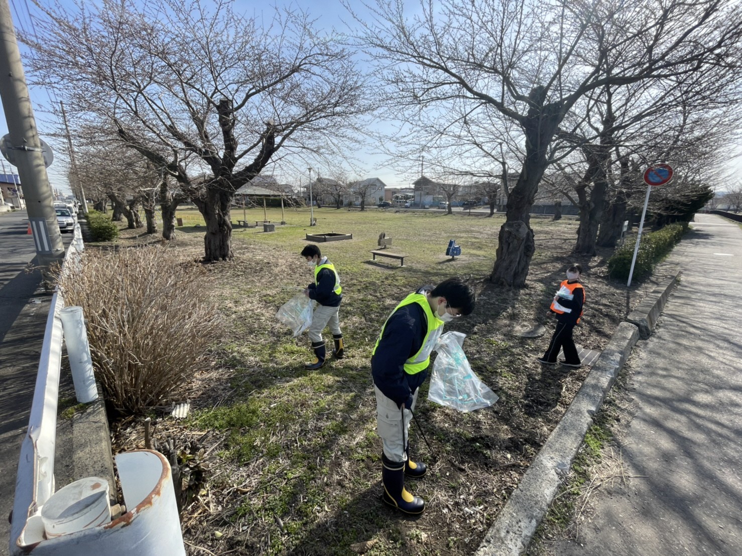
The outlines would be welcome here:
M 0 0 L 0 99 L 9 132 L 4 148 L 15 155 L 36 254 L 47 265 L 63 257 L 65 247 L 7 0 Z

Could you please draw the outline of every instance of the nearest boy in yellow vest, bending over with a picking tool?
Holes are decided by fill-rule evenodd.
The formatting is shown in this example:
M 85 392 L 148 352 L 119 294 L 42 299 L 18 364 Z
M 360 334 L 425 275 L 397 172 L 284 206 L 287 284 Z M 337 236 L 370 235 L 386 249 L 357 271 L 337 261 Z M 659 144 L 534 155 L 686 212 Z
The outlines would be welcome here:
M 419 478 L 424 463 L 410 460 L 410 420 L 420 385 L 427 377 L 430 352 L 444 322 L 474 310 L 474 292 L 460 278 L 424 286 L 405 297 L 384 322 L 372 351 L 376 426 L 384 450 L 381 483 L 385 503 L 408 514 L 421 514 L 424 500 L 404 488 L 404 476 Z

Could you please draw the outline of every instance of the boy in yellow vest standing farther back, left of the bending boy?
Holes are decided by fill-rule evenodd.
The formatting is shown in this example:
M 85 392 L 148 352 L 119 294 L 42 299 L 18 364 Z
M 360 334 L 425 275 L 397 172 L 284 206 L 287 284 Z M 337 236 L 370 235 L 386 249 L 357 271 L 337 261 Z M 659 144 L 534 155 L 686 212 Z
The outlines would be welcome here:
M 309 325 L 309 340 L 312 342 L 312 351 L 315 360 L 306 363 L 305 368 L 320 368 L 325 363 L 326 348 L 322 331 L 329 326 L 332 332 L 332 340 L 335 348 L 332 355 L 342 359 L 344 355 L 343 333 L 340 330 L 340 303 L 343 300 L 343 288 L 340 286 L 340 276 L 332 262 L 327 257 L 322 257 L 317 245 L 306 245 L 301 250 L 301 256 L 306 259 L 306 264 L 315 273 L 315 282 L 309 284 L 304 290 L 304 295 L 309 299 L 315 299 L 317 307 L 312 313 L 312 324 Z

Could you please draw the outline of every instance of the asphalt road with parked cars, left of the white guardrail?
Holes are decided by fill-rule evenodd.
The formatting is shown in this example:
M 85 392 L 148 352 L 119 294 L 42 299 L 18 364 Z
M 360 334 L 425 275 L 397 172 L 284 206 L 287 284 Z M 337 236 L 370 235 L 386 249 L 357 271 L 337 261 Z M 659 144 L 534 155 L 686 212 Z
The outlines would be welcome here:
M 8 554 L 7 516 L 51 300 L 41 273 L 25 271 L 36 260 L 27 218 L 26 211 L 0 213 L 0 556 Z M 70 235 L 62 234 L 65 245 Z

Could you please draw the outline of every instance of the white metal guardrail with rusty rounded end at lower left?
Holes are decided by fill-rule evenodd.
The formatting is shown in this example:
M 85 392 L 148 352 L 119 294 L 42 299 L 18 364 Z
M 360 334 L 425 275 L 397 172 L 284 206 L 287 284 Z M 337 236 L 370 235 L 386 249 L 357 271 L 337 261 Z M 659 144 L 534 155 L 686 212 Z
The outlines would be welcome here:
M 76 225 L 62 272 L 77 270 L 82 250 L 82 234 Z M 170 465 L 156 451 L 137 450 L 116 456 L 126 511 L 114 520 L 108 508 L 107 489 L 101 494 L 99 482 L 91 480 L 94 477 L 55 492 L 54 451 L 63 337 L 59 315 L 64 303 L 61 292 L 55 290 L 18 463 L 10 555 L 185 555 Z M 99 511 L 103 497 L 102 517 L 92 515 L 93 509 Z M 88 520 L 88 516 L 92 519 Z M 98 524 L 89 526 L 90 523 Z

